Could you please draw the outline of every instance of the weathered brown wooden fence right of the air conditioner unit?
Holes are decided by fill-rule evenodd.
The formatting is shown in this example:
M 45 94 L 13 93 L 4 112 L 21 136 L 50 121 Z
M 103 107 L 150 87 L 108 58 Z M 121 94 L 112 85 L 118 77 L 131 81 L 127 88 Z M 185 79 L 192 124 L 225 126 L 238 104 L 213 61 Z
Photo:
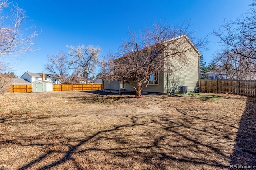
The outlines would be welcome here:
M 205 93 L 230 93 L 256 96 L 256 81 L 248 80 L 199 80 L 199 91 Z

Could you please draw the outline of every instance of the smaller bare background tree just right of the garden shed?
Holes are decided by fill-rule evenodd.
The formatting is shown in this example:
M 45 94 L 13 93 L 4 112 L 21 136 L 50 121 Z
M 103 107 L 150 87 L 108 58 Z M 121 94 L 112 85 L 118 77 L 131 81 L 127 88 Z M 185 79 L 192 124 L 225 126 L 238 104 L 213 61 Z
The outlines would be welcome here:
M 48 64 L 45 65 L 45 69 L 50 73 L 54 73 L 59 77 L 60 83 L 63 83 L 68 77 L 68 54 L 59 51 L 57 55 L 48 54 Z

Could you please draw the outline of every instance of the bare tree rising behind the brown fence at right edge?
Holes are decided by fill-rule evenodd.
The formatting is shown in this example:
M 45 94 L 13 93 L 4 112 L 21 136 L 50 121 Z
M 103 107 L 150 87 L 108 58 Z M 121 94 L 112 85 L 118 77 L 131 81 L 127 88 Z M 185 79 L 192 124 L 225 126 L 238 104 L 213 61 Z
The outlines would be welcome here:
M 247 16 L 227 22 L 214 30 L 222 49 L 215 61 L 231 79 L 256 79 L 256 1 Z

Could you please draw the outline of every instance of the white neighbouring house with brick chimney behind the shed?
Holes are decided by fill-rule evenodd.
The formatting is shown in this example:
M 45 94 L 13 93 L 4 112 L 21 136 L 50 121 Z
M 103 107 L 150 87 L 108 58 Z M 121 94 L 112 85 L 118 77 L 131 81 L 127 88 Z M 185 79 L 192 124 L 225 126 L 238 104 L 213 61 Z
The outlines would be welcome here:
M 42 74 L 43 73 L 25 72 L 20 78 L 26 79 L 30 83 L 33 83 L 34 81 L 38 81 L 38 80 L 42 81 Z M 53 84 L 61 84 L 59 79 L 58 79 L 58 75 L 54 75 L 54 74 L 45 74 L 45 81 L 50 81 Z

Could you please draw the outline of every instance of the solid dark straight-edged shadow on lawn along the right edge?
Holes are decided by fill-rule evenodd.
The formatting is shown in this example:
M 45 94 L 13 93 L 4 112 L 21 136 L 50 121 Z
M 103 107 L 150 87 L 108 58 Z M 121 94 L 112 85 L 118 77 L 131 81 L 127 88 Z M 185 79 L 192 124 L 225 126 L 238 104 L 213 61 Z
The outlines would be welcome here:
M 256 168 L 256 97 L 247 98 L 230 165 L 244 165 L 241 169 L 250 169 L 246 167 L 250 165 Z

